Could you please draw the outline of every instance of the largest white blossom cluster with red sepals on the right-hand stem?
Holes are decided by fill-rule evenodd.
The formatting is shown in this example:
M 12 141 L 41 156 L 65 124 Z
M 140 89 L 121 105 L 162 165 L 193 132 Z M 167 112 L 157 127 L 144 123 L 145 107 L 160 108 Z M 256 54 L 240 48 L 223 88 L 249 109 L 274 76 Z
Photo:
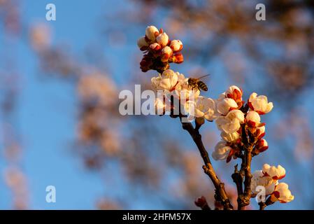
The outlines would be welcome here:
M 269 103 L 266 96 L 258 96 L 253 92 L 248 99 L 248 104 L 242 99 L 241 88 L 232 85 L 217 99 L 217 119 L 215 123 L 221 131 L 220 141 L 215 146 L 213 158 L 227 160 L 241 156 L 245 144 L 251 144 L 252 154 L 257 155 L 266 151 L 267 141 L 265 123 L 261 123 L 260 115 L 269 113 L 273 103 Z

